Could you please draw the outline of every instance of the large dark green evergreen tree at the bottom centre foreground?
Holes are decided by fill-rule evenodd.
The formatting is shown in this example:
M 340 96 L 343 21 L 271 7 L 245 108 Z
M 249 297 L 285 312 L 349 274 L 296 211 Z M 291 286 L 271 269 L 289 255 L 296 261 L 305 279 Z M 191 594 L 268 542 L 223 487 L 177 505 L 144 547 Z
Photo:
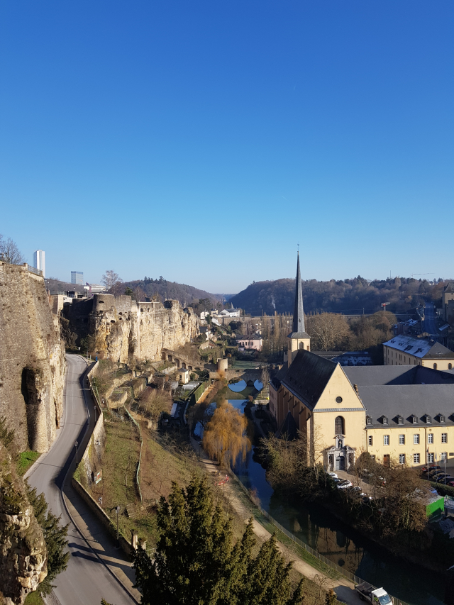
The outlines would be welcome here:
M 275 537 L 253 556 L 249 521 L 233 544 L 231 519 L 214 507 L 206 478 L 193 477 L 187 489 L 173 484 L 157 511 L 160 539 L 152 561 L 135 551 L 134 566 L 142 604 L 299 605 L 302 581 L 292 590 L 289 572 Z

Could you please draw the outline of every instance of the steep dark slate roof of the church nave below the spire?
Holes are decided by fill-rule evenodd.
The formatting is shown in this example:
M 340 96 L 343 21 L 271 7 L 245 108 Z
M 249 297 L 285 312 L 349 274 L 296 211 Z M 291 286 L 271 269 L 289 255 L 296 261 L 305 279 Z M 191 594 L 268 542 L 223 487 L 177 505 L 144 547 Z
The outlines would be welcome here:
M 336 365 L 311 351 L 300 349 L 281 383 L 312 411 Z

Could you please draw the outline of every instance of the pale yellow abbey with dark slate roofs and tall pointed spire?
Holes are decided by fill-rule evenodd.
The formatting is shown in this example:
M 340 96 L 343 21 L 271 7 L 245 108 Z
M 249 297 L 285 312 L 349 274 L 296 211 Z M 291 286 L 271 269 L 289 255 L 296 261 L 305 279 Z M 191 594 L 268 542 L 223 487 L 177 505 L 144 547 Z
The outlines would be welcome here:
M 342 367 L 311 353 L 297 262 L 288 365 L 270 381 L 278 434 L 306 440 L 308 457 L 347 470 L 364 451 L 377 462 L 454 466 L 454 373 L 423 365 Z

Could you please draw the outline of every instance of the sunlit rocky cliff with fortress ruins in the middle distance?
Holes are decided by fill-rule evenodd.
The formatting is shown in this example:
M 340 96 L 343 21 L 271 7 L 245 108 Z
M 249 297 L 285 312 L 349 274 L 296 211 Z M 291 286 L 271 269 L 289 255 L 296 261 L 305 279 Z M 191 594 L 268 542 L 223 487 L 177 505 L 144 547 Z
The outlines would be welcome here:
M 195 313 L 178 301 L 137 303 L 131 296 L 95 294 L 89 301 L 74 300 L 65 312 L 72 331 L 94 338 L 96 355 L 131 367 L 160 360 L 162 348 L 175 350 L 199 334 Z

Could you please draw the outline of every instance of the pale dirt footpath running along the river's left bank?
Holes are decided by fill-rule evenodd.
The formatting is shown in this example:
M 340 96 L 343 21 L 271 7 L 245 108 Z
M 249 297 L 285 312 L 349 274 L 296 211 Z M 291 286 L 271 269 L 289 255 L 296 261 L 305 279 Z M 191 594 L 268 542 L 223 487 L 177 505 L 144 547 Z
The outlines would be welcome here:
M 199 453 L 199 443 L 193 438 L 191 438 L 191 443 L 194 450 Z M 200 455 L 201 462 L 206 468 L 207 472 L 212 473 L 219 470 L 217 463 L 209 460 L 208 456 L 201 448 Z M 233 509 L 241 518 L 244 519 L 246 523 L 250 518 L 250 511 L 248 511 L 248 509 L 241 503 L 238 496 L 236 496 L 232 484 L 230 482 L 226 482 L 223 489 L 225 489 L 228 493 L 228 498 Z M 255 535 L 257 535 L 260 540 L 268 540 L 271 537 L 270 532 L 267 531 L 256 519 L 253 520 L 253 528 Z M 284 555 L 286 560 L 292 561 L 294 569 L 304 575 L 304 577 L 316 583 L 319 583 L 318 580 L 323 578 L 323 588 L 326 590 L 332 588 L 338 595 L 338 599 L 342 599 L 342 601 L 348 605 L 356 605 L 361 603 L 358 594 L 355 593 L 355 584 L 353 584 L 353 582 L 350 582 L 350 580 L 346 578 L 332 579 L 324 575 L 319 570 L 314 569 L 314 567 L 311 567 L 311 565 L 309 565 L 309 563 L 306 561 L 297 557 L 297 555 L 292 553 L 292 551 L 289 550 L 286 545 L 282 544 L 282 542 L 278 541 L 277 544 L 279 546 L 279 550 L 281 550 L 282 555 Z

